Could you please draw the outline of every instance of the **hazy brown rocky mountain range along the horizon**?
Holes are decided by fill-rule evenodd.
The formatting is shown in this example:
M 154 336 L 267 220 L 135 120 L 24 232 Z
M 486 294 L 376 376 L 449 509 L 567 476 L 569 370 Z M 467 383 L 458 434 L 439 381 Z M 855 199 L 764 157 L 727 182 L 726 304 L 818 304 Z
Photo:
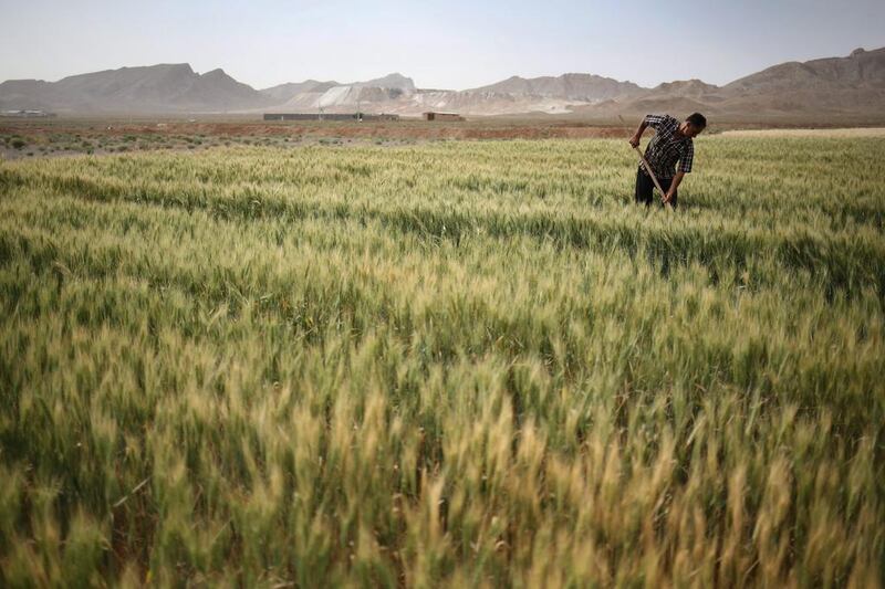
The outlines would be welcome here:
M 395 73 L 365 82 L 308 80 L 256 90 L 223 72 L 188 64 L 122 67 L 58 82 L 0 84 L 0 109 L 59 114 L 200 114 L 354 112 L 418 115 L 575 114 L 612 116 L 652 111 L 714 115 L 881 115 L 885 113 L 885 48 L 845 57 L 788 62 L 723 86 L 700 80 L 645 88 L 593 74 L 509 77 L 466 91 L 421 90 Z

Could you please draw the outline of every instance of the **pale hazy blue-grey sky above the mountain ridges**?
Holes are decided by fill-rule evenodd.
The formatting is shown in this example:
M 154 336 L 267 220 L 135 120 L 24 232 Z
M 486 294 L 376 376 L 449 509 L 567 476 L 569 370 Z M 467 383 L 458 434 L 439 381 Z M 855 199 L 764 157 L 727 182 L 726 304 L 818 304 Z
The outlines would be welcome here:
M 258 88 L 400 72 L 464 90 L 585 72 L 723 84 L 885 45 L 885 0 L 0 0 L 0 81 L 155 63 Z

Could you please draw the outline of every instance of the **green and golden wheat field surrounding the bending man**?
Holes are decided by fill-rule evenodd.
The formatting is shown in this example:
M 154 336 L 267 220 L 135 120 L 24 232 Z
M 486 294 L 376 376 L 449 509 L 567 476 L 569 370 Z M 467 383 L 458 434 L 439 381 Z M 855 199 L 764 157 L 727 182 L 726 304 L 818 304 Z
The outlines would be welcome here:
M 881 137 L 0 162 L 0 585 L 881 587 Z

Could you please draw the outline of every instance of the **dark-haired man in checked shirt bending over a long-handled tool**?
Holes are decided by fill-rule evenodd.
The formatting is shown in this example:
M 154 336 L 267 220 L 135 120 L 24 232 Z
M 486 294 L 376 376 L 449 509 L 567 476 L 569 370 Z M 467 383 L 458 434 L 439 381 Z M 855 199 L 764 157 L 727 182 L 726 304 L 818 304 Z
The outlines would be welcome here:
M 645 160 L 655 172 L 660 188 L 666 191 L 663 198 L 664 204 L 676 207 L 677 189 L 685 175 L 691 171 L 695 159 L 695 144 L 691 139 L 707 128 L 707 119 L 700 113 L 690 115 L 681 123 L 669 115 L 646 115 L 636 129 L 636 135 L 631 137 L 629 145 L 638 147 L 643 133 L 648 127 L 654 128 L 656 133 L 645 150 Z M 643 168 L 644 166 L 639 164 L 639 170 L 636 172 L 636 202 L 644 202 L 647 207 L 652 204 L 652 190 L 655 183 Z

